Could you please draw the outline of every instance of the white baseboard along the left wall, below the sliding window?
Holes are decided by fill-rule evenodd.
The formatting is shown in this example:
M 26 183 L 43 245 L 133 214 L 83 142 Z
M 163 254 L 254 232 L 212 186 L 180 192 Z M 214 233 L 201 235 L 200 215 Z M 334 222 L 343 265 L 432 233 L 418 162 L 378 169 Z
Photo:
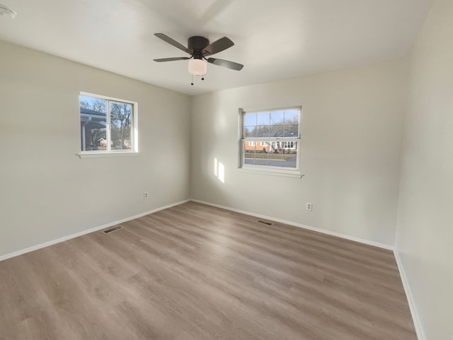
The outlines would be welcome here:
M 11 259 L 11 257 L 16 257 L 16 256 L 19 256 L 19 255 L 22 255 L 22 254 L 26 254 L 28 252 L 33 252 L 35 250 L 38 250 L 38 249 L 41 249 L 41 248 L 44 248 L 44 247 L 49 247 L 50 245 L 55 245 L 55 244 L 57 244 L 59 242 L 64 242 L 64 241 L 67 241 L 67 240 L 71 240 L 72 238 L 78 238 L 79 236 L 86 235 L 86 234 L 89 234 L 89 233 L 93 233 L 93 232 L 98 231 L 98 230 L 103 230 L 103 229 L 109 228 L 109 227 L 111 227 L 113 225 L 117 225 L 117 224 L 120 224 L 120 223 L 125 223 L 127 221 L 132 221 L 135 218 L 143 217 L 143 216 L 149 215 L 150 213 L 156 213 L 157 211 L 168 209 L 168 208 L 171 208 L 172 206 L 178 206 L 179 204 L 183 204 L 183 203 L 188 202 L 188 201 L 190 201 L 190 199 L 185 199 L 184 201 L 179 201 L 177 203 L 168 204 L 167 206 L 161 206 L 161 207 L 159 207 L 157 209 L 146 211 L 144 213 L 139 213 L 138 215 L 135 215 L 135 216 L 122 218 L 121 220 L 113 221 L 113 222 L 110 222 L 110 223 L 107 223 L 107 224 L 104 224 L 104 225 L 99 225 L 98 227 L 95 227 L 95 228 L 91 228 L 91 229 L 88 229 L 88 230 L 81 231 L 79 233 L 67 235 L 67 236 L 64 236 L 62 238 L 58 238 L 57 240 L 44 242 L 44 243 L 41 243 L 40 245 L 34 245 L 33 247 L 28 247 L 28 248 L 25 248 L 23 250 L 18 250 L 17 252 L 11 252 L 9 254 L 0 255 L 0 261 L 3 261 L 4 259 Z

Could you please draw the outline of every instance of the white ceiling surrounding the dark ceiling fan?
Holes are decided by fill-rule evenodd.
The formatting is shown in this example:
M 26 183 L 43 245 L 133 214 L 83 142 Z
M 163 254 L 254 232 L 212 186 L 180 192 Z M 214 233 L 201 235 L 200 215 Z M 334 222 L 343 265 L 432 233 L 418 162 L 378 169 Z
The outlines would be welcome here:
M 1 0 L 18 13 L 0 16 L 0 39 L 164 88 L 195 95 L 405 56 L 432 0 Z M 229 37 L 190 86 L 187 46 L 202 35 Z

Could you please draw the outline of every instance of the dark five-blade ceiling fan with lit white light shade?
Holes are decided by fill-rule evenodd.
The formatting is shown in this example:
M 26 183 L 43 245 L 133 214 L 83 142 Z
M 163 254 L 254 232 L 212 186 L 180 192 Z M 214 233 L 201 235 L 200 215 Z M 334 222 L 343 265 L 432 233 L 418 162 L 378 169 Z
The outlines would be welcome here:
M 212 54 L 222 52 L 224 51 L 224 49 L 227 49 L 234 45 L 234 42 L 229 40 L 229 38 L 227 37 L 221 37 L 219 40 L 212 42 L 212 44 L 210 44 L 210 41 L 205 37 L 190 37 L 187 42 L 188 47 L 185 47 L 176 40 L 171 39 L 171 37 L 164 35 L 164 33 L 154 33 L 154 35 L 161 38 L 161 40 L 168 42 L 168 44 L 183 50 L 185 53 L 190 54 L 190 57 L 161 58 L 154 59 L 154 61 L 162 62 L 190 59 L 189 73 L 193 74 L 194 76 L 204 76 L 206 74 L 206 61 L 210 64 L 223 66 L 236 71 L 240 71 L 243 68 L 242 64 L 235 63 L 234 61 L 209 57 Z

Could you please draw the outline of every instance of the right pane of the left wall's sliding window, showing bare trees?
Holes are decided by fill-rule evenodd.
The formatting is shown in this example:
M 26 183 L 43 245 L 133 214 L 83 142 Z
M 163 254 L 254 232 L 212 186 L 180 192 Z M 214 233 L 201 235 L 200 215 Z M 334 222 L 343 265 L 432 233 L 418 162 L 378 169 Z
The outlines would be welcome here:
M 110 102 L 112 150 L 132 148 L 132 105 Z

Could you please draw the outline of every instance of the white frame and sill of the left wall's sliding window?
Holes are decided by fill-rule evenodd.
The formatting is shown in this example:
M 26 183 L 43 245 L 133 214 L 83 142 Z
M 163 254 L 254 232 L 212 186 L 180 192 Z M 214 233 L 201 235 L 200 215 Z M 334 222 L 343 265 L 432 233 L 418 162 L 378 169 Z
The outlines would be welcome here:
M 106 132 L 105 136 L 107 139 L 106 150 L 96 150 L 96 151 L 83 151 L 81 150 L 76 156 L 79 158 L 96 158 L 96 157 L 113 157 L 113 156 L 132 156 L 136 155 L 139 152 L 138 148 L 138 102 L 131 100 L 124 100 L 120 98 L 108 97 L 106 95 L 96 95 L 94 93 L 88 93 L 81 91 L 79 94 L 79 117 L 80 117 L 80 96 L 91 97 L 101 100 L 106 100 Z M 110 102 L 121 102 L 132 106 L 132 124 L 131 124 L 131 136 L 130 140 L 132 142 L 132 148 L 130 149 L 112 149 L 111 148 L 111 137 L 110 137 Z M 82 131 L 81 131 L 82 134 Z

